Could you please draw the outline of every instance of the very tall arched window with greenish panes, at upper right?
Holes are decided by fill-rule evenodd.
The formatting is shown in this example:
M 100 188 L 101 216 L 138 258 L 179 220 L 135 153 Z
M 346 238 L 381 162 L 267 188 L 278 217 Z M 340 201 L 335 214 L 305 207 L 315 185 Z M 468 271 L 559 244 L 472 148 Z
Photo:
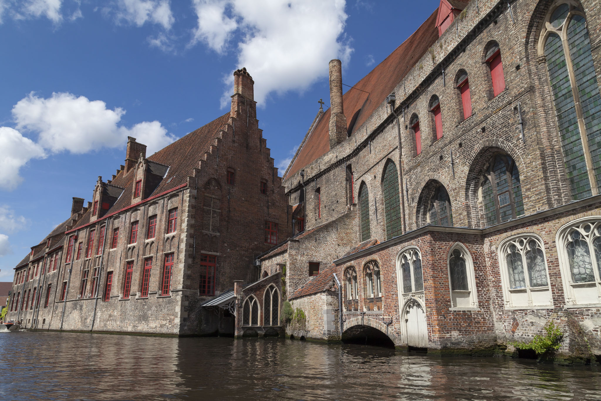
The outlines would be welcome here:
M 584 13 L 558 1 L 547 14 L 538 46 L 545 55 L 567 179 L 574 200 L 601 188 L 601 96 Z

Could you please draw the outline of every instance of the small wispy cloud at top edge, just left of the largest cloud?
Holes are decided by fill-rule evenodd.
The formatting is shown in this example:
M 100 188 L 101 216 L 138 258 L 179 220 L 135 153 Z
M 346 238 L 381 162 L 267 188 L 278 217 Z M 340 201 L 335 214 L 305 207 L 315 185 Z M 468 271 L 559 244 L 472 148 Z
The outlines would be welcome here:
M 117 20 L 136 26 L 156 23 L 165 29 L 171 29 L 175 21 L 168 0 L 118 0 Z

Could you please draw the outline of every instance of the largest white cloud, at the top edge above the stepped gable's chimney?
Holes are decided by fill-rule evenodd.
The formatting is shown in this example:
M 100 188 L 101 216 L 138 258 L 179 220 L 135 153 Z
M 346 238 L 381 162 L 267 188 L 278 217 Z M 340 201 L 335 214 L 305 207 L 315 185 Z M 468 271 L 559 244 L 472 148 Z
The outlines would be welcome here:
M 346 43 L 344 0 L 194 0 L 198 26 L 191 44 L 203 41 L 218 53 L 228 49 L 234 33 L 238 67 L 255 81 L 255 100 L 269 93 L 304 91 L 328 76 L 328 62 L 346 64 L 353 49 Z M 230 101 L 233 77 L 225 78 Z

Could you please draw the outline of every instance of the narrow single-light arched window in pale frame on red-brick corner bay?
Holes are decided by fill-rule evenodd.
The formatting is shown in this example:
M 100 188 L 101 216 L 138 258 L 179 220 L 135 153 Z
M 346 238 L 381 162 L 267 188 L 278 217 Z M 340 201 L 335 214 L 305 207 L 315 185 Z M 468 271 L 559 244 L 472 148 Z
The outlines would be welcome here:
M 474 264 L 468 249 L 456 243 L 451 248 L 448 261 L 451 308 L 477 308 Z

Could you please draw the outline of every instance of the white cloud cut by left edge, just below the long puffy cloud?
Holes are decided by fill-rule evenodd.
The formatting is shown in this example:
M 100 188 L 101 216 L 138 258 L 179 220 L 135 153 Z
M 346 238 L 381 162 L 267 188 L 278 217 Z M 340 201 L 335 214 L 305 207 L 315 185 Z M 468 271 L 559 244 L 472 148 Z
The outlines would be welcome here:
M 16 129 L 0 127 L 0 187 L 8 190 L 19 185 L 23 178 L 19 169 L 31 159 L 45 158 L 43 148 L 25 138 Z

